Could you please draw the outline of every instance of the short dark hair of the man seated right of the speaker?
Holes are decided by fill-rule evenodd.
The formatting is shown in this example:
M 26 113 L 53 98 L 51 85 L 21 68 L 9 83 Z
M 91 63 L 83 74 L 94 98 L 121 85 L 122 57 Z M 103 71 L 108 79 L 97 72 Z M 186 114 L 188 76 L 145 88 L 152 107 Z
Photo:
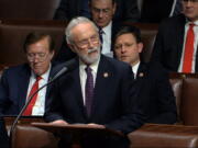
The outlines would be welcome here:
M 133 25 L 125 25 L 125 26 L 122 26 L 116 34 L 116 37 L 114 37 L 114 41 L 120 36 L 120 35 L 123 35 L 123 34 L 132 34 L 136 42 L 138 43 L 141 43 L 142 42 L 142 38 L 141 38 L 141 31 L 139 27 L 136 26 L 133 26 Z

